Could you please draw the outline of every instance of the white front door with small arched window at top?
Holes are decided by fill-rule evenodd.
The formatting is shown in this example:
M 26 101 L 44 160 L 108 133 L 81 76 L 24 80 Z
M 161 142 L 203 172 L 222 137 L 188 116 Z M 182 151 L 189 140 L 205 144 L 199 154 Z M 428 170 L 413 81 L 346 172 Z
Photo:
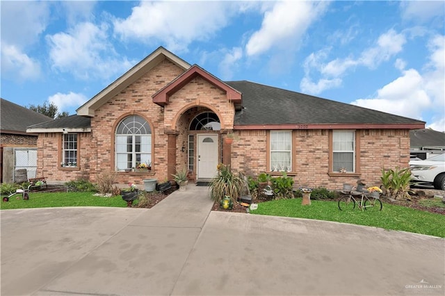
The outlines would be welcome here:
M 213 178 L 217 165 L 218 135 L 197 135 L 197 178 Z

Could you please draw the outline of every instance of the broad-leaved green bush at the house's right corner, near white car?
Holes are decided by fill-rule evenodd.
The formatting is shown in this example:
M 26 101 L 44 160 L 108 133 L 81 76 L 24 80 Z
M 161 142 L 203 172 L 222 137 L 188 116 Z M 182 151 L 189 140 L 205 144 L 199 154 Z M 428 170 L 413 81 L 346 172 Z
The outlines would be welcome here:
M 380 176 L 380 181 L 386 190 L 385 195 L 394 199 L 410 199 L 411 179 L 409 167 L 404 169 L 396 167 L 394 170 L 382 169 L 382 176 Z

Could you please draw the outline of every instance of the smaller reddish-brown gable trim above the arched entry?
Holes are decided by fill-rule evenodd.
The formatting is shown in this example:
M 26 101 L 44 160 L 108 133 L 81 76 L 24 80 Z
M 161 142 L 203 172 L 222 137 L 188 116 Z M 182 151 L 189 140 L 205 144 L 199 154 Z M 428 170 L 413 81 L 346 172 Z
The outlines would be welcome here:
M 178 76 L 177 79 L 153 94 L 153 102 L 159 106 L 167 105 L 172 94 L 175 94 L 175 92 L 180 90 L 184 85 L 197 76 L 202 77 L 202 79 L 205 79 L 217 88 L 220 88 L 220 90 L 224 90 L 226 92 L 227 100 L 232 101 L 235 104 L 235 109 L 241 109 L 241 92 L 238 92 L 238 90 L 232 88 L 232 86 L 227 83 L 220 81 L 216 76 L 213 76 L 198 65 L 193 65 L 186 72 Z

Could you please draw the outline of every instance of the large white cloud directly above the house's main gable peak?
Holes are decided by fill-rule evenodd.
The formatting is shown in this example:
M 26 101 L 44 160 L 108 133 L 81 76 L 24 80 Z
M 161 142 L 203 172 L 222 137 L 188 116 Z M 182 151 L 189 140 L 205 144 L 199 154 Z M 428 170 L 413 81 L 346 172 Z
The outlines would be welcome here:
M 171 51 L 185 51 L 195 40 L 207 40 L 239 11 L 243 3 L 216 1 L 141 1 L 127 19 L 115 19 L 114 32 L 123 40 L 165 42 Z

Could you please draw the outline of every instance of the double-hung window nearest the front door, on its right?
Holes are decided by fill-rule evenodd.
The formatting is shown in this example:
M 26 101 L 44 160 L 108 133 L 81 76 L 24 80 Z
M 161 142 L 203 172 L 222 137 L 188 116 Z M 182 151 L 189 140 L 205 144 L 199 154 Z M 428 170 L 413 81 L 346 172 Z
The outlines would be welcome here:
M 291 172 L 292 131 L 270 131 L 270 170 Z

